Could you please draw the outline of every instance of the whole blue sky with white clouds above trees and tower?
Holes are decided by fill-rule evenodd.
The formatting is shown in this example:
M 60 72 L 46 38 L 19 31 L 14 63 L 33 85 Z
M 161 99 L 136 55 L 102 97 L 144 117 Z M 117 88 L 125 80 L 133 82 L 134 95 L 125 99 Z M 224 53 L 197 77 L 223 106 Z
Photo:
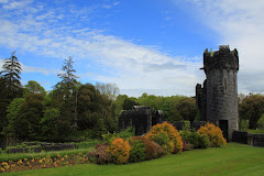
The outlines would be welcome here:
M 239 92 L 260 92 L 263 9 L 263 0 L 0 0 L 0 66 L 16 51 L 22 82 L 51 90 L 72 56 L 84 84 L 194 96 L 204 51 L 229 44 L 239 51 Z

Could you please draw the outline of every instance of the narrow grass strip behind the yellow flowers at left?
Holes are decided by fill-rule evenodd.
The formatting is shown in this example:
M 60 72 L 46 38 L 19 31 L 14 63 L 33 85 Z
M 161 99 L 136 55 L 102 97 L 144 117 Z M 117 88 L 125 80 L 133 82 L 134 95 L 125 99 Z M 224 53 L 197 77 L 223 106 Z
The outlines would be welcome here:
M 41 152 L 41 153 L 12 153 L 12 154 L 0 154 L 0 162 L 8 162 L 8 161 L 18 161 L 23 158 L 36 158 L 36 157 L 44 157 L 50 155 L 51 157 L 57 155 L 74 155 L 78 153 L 88 153 L 95 147 L 87 147 L 87 148 L 76 148 L 76 150 L 65 150 L 65 151 L 53 151 L 53 152 Z

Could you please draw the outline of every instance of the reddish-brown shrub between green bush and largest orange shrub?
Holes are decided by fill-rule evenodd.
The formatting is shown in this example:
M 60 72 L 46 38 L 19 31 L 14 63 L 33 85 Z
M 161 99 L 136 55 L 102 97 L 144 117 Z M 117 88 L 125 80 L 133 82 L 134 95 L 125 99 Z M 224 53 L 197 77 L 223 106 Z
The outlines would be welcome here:
M 132 140 L 139 140 L 145 144 L 145 160 L 157 158 L 164 155 L 164 150 L 153 141 L 143 136 L 133 136 Z

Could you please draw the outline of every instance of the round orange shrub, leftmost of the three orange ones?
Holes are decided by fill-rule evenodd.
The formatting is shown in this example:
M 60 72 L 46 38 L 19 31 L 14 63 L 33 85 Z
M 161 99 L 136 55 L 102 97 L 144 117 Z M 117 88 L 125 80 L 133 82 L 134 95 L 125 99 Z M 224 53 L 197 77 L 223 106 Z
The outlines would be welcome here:
M 110 154 L 110 157 L 113 161 L 113 163 L 117 164 L 128 163 L 130 153 L 129 142 L 118 138 L 112 141 L 110 146 L 108 146 L 107 152 Z

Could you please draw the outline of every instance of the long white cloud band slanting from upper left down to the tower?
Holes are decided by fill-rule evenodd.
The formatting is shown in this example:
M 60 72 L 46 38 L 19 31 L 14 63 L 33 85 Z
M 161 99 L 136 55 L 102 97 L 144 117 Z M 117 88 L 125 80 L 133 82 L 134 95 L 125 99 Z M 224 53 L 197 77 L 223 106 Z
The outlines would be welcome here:
M 179 95 L 194 96 L 196 84 L 205 77 L 199 70 L 201 63 L 197 63 L 197 57 L 172 57 L 160 48 L 135 45 L 103 35 L 98 30 L 58 23 L 67 15 L 75 14 L 64 15 L 62 11 L 51 8 L 48 11 L 40 8 L 37 14 L 32 11 L 23 13 L 23 18 L 0 18 L 1 46 L 44 56 L 66 58 L 70 55 L 76 59 L 90 59 L 107 73 L 94 75 L 91 79 L 96 81 L 116 82 L 121 89 L 174 89 Z M 84 14 L 79 11 L 79 15 Z M 51 73 L 29 66 L 24 66 L 24 70 L 45 75 Z

